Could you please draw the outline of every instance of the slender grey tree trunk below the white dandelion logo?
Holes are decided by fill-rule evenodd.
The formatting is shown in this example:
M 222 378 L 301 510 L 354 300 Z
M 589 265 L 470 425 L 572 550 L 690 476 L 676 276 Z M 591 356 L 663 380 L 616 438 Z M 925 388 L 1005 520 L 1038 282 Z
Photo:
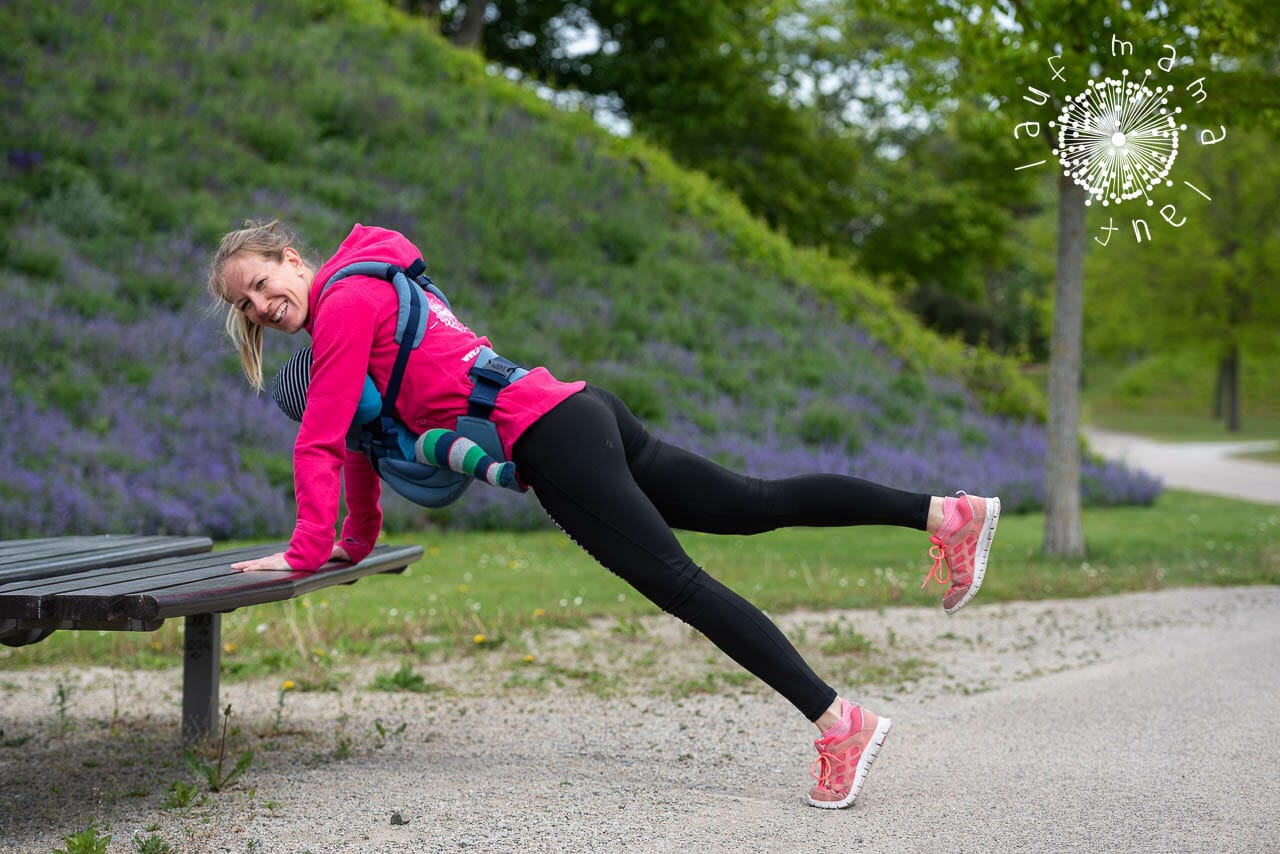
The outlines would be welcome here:
M 1057 179 L 1057 275 L 1048 357 L 1044 553 L 1084 554 L 1080 519 L 1080 348 L 1084 330 L 1084 189 Z

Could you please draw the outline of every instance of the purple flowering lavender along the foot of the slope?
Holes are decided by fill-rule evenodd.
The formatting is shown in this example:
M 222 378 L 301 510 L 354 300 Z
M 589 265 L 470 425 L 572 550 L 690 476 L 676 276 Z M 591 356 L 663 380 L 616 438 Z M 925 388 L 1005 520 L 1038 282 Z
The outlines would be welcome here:
M 147 311 L 132 319 L 84 319 L 60 311 L 58 303 L 50 289 L 0 292 L 5 535 L 287 536 L 293 522 L 288 455 L 296 428 L 266 396 L 243 384 L 219 321 L 195 303 L 180 312 Z M 296 343 L 269 341 L 271 361 Z M 873 343 L 858 344 L 874 353 Z M 695 353 L 663 342 L 648 344 L 645 352 L 640 365 L 654 375 L 696 378 Z M 1000 494 L 1009 512 L 1042 506 L 1041 425 L 972 406 L 940 410 L 937 399 L 965 397 L 940 380 L 924 380 L 923 403 L 895 407 L 902 403 L 893 392 L 902 369 L 884 353 L 874 359 L 883 370 L 850 378 L 856 392 L 804 391 L 790 406 L 774 408 L 718 396 L 689 403 L 687 411 L 652 426 L 667 442 L 755 476 L 828 471 L 936 494 Z M 18 373 L 18 365 L 27 371 Z M 50 366 L 52 382 L 37 387 Z M 580 373 L 612 376 L 623 387 L 628 379 L 640 382 L 639 366 L 595 367 Z M 24 388 L 41 388 L 44 396 Z M 796 412 L 815 403 L 846 414 L 850 435 L 799 442 L 795 429 L 786 428 L 794 426 Z M 892 417 L 886 408 L 895 410 Z M 1085 462 L 1087 503 L 1148 503 L 1158 488 L 1123 466 Z M 531 495 L 483 485 L 445 511 L 425 511 L 389 490 L 385 507 L 389 529 L 548 524 Z

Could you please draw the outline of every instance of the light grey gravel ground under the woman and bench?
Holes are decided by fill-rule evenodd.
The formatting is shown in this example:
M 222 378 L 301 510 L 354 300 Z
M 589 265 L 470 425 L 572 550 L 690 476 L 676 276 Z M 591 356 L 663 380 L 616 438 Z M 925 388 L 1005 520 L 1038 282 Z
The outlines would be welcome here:
M 93 819 L 131 853 L 152 832 L 315 854 L 1276 851 L 1277 607 L 1260 586 L 788 615 L 819 672 L 893 718 L 838 812 L 803 802 L 812 725 L 668 617 L 547 632 L 531 663 L 416 665 L 433 693 L 370 690 L 399 662 L 361 663 L 343 693 L 287 694 L 279 725 L 278 680 L 224 685 L 255 758 L 184 809 L 164 808 L 193 780 L 177 670 L 10 670 L 0 849 Z

